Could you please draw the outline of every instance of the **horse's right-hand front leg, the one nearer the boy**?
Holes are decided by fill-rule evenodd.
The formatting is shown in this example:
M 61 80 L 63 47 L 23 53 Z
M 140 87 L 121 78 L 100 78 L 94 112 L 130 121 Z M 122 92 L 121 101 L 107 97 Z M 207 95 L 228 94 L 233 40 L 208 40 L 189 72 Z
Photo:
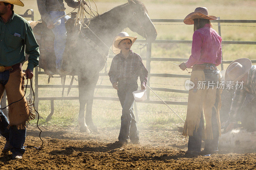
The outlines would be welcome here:
M 89 126 L 89 128 L 93 132 L 97 132 L 98 128 L 94 125 L 92 121 L 92 104 L 93 104 L 93 96 L 96 84 L 99 79 L 99 74 L 95 75 L 92 79 L 90 79 L 90 85 L 87 91 L 87 99 L 86 99 L 86 114 L 85 114 L 85 123 Z

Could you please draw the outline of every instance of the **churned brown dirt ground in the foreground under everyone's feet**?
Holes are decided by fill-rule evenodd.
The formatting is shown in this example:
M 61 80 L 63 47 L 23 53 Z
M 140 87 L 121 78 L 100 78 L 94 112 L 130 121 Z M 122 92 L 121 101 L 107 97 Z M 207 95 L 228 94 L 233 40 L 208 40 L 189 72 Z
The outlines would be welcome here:
M 188 138 L 176 129 L 140 129 L 139 145 L 116 146 L 119 128 L 99 129 L 98 133 L 80 133 L 78 127 L 42 127 L 27 129 L 26 152 L 22 160 L 11 153 L 0 155 L 0 169 L 255 169 L 256 153 L 221 150 L 211 156 L 186 157 Z M 0 149 L 5 139 L 0 137 Z M 203 144 L 204 145 L 204 144 Z

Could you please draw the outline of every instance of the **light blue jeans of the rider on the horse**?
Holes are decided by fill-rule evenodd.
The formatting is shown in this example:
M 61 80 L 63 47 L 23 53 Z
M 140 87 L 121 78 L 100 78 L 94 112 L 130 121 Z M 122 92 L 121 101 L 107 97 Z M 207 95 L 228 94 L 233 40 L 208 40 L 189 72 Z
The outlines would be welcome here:
M 60 69 L 63 62 L 63 54 L 66 47 L 66 41 L 67 41 L 67 30 L 65 27 L 65 22 L 70 18 L 68 15 L 66 15 L 63 18 L 63 15 L 66 15 L 65 11 L 50 11 L 50 18 L 52 19 L 53 24 L 57 21 L 60 23 L 57 23 L 54 28 L 52 28 L 52 32 L 55 35 L 54 39 L 54 51 L 56 56 L 56 68 Z M 59 19 L 60 18 L 60 19 Z

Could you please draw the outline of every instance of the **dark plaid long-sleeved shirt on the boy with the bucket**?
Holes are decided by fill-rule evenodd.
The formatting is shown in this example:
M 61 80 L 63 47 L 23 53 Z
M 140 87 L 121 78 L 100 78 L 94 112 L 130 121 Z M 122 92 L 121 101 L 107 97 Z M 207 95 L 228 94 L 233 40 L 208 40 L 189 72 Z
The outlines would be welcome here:
M 112 84 L 118 81 L 137 81 L 139 76 L 141 85 L 146 85 L 148 82 L 148 70 L 142 63 L 140 55 L 132 52 L 132 50 L 126 59 L 124 59 L 122 52 L 113 58 L 108 76 Z

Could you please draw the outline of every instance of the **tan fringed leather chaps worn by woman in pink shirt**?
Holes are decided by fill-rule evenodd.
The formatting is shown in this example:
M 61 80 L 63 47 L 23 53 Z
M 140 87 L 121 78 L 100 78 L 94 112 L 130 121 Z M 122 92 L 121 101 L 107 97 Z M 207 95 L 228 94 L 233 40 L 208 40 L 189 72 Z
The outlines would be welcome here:
M 192 71 L 190 81 L 205 81 L 204 71 L 195 70 Z M 195 82 L 194 82 L 195 83 Z M 195 83 L 196 85 L 197 83 Z M 194 129 L 198 129 L 201 115 L 204 114 L 205 127 L 203 126 L 203 139 L 213 139 L 212 135 L 212 108 L 216 108 L 216 117 L 220 133 L 220 100 L 221 91 L 214 87 L 207 89 L 205 86 L 203 89 L 197 89 L 196 91 L 191 89 L 188 93 L 188 108 L 187 116 L 184 124 L 182 135 L 193 136 Z

